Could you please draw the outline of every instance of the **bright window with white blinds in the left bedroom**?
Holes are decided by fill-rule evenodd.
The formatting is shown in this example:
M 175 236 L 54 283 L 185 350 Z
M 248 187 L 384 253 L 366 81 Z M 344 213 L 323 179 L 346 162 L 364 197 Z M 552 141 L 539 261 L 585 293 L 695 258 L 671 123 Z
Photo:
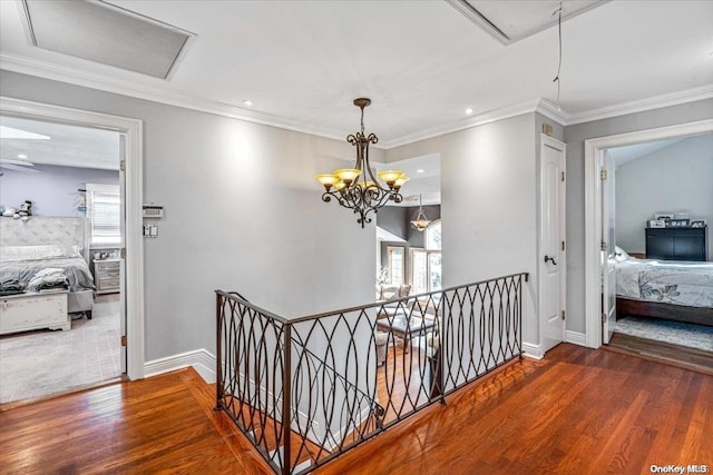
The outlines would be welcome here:
M 92 246 L 121 244 L 121 195 L 118 185 L 87 184 L 87 217 Z

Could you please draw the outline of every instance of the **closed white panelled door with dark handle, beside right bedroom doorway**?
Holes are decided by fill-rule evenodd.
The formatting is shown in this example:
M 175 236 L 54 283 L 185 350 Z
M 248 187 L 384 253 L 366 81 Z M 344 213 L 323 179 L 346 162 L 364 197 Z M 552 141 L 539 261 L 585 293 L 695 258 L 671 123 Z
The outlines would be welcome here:
M 539 315 L 543 352 L 565 338 L 565 145 L 541 135 Z

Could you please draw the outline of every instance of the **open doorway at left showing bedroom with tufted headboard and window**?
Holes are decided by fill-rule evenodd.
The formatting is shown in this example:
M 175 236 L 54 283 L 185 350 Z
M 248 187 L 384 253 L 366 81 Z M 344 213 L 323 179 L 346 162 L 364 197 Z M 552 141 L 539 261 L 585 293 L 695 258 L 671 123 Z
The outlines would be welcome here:
M 27 220 L 2 218 L 0 274 L 25 290 L 6 297 L 3 317 L 25 314 L 32 324 L 2 327 L 0 403 L 119 378 L 126 373 L 120 135 L 4 115 L 1 120 L 0 204 L 32 206 Z M 37 277 L 50 270 L 51 281 Z M 49 300 L 66 304 L 61 330 L 43 328 Z

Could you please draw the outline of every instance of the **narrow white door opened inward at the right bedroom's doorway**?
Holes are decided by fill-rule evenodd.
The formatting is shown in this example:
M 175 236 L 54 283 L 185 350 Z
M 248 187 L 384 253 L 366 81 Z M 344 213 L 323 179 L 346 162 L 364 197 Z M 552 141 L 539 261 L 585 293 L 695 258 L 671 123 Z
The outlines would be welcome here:
M 608 151 L 602 152 L 602 343 L 608 344 L 616 323 L 615 168 Z

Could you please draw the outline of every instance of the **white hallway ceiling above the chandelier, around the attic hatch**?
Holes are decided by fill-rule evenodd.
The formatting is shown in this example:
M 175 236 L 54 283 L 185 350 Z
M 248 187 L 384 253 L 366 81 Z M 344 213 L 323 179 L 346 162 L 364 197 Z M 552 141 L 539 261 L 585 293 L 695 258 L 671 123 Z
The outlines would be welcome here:
M 0 67 L 339 139 L 369 97 L 383 148 L 535 107 L 566 125 L 713 97 L 707 0 L 613 0 L 566 19 L 559 100 L 556 24 L 506 46 L 446 1 L 108 3 L 194 34 L 168 79 L 32 46 L 19 1 L 0 1 Z M 558 4 L 497 3 L 512 23 Z

